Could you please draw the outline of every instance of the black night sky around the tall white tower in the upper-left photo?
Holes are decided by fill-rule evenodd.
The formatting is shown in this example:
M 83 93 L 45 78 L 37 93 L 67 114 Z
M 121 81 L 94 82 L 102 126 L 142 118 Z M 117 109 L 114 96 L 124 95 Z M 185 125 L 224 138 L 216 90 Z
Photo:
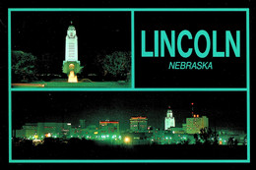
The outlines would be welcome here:
M 61 65 L 71 21 L 83 64 L 91 63 L 98 53 L 131 50 L 129 12 L 12 12 L 12 49 L 35 56 L 50 53 Z

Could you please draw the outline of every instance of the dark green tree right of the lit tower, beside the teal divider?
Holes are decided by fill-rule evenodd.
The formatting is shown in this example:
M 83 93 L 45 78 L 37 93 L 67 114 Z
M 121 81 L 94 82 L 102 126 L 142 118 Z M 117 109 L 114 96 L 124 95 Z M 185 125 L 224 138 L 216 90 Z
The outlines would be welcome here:
M 131 72 L 131 52 L 115 51 L 101 60 L 104 75 L 113 80 L 126 80 Z

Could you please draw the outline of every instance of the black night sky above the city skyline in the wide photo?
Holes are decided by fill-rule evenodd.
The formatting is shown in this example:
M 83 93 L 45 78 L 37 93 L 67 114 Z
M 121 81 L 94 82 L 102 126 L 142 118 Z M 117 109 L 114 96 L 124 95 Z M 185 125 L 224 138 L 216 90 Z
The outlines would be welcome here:
M 163 129 L 167 106 L 170 105 L 177 127 L 190 117 L 190 103 L 209 117 L 210 126 L 246 129 L 245 92 L 150 92 L 150 91 L 65 91 L 14 92 L 13 128 L 25 122 L 56 121 L 98 125 L 99 120 L 119 120 L 120 128 L 129 128 L 130 116 L 143 115 L 149 125 Z

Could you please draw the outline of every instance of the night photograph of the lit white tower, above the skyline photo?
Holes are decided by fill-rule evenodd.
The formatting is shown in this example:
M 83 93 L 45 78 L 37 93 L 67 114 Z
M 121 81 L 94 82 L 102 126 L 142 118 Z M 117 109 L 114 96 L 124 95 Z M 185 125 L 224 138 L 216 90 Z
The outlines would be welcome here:
M 13 87 L 130 87 L 128 12 L 12 12 Z

